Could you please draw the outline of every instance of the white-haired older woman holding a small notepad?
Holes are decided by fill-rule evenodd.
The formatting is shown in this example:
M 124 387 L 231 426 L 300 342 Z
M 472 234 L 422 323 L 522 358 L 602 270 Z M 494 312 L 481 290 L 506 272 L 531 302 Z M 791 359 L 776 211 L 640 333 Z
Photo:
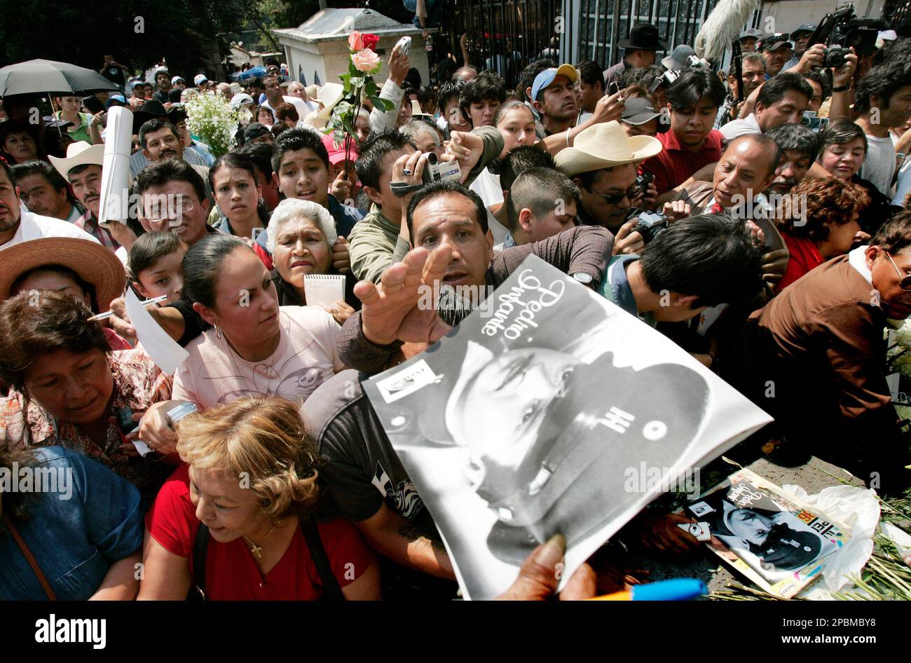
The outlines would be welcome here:
M 310 200 L 284 199 L 272 212 L 266 230 L 272 255 L 271 276 L 282 306 L 304 306 L 304 277 L 333 274 L 335 220 L 327 209 Z M 346 291 L 350 289 L 346 288 Z M 354 309 L 344 299 L 323 307 L 343 324 Z

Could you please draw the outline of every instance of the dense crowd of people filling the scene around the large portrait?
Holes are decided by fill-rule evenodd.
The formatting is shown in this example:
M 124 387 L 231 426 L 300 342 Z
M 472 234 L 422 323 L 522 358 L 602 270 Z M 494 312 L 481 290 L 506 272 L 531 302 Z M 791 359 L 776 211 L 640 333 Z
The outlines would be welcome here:
M 884 330 L 911 315 L 911 39 L 825 67 L 813 30 L 745 30 L 740 67 L 715 71 L 640 24 L 620 62 L 542 54 L 515 89 L 489 62 L 424 81 L 396 48 L 392 108 L 364 100 L 342 145 L 327 129 L 341 86 L 278 64 L 224 82 L 105 56 L 121 91 L 55 98 L 38 123 L 39 99 L 4 97 L 0 468 L 67 471 L 77 499 L 0 492 L 0 597 L 455 597 L 361 382 L 529 254 L 772 414 L 741 448 L 903 491 Z M 183 104 L 206 94 L 251 111 L 219 158 L 187 127 Z M 139 202 L 102 224 L 114 106 L 135 117 Z M 425 177 L 440 164 L 455 175 Z M 315 275 L 343 296 L 308 305 Z M 421 287 L 440 283 L 455 295 L 425 310 Z M 187 352 L 176 372 L 138 342 L 128 290 L 162 299 L 147 311 Z M 650 510 L 622 534 L 693 554 L 683 522 Z M 556 589 L 559 534 L 506 597 Z M 635 581 L 623 564 L 593 558 L 565 596 Z

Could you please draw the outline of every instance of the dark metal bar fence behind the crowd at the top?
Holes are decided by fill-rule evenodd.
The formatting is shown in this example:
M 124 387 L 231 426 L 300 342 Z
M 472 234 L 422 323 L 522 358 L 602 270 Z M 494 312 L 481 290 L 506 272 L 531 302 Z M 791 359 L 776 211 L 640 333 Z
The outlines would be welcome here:
M 692 44 L 718 0 L 458 0 L 442 20 L 449 48 L 460 54 L 466 33 L 470 62 L 515 83 L 537 57 L 565 62 L 619 62 L 619 40 L 639 22 L 658 26 L 670 48 Z M 758 20 L 758 13 L 755 16 Z

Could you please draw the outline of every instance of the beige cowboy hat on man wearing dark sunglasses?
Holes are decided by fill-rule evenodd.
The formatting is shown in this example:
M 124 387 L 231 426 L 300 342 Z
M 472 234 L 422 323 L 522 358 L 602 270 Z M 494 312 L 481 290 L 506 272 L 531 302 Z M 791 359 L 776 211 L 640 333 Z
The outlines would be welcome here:
M 579 131 L 572 148 L 561 149 L 554 160 L 557 169 L 572 177 L 601 168 L 613 168 L 654 157 L 661 142 L 650 136 L 627 138 L 617 120 L 601 122 Z

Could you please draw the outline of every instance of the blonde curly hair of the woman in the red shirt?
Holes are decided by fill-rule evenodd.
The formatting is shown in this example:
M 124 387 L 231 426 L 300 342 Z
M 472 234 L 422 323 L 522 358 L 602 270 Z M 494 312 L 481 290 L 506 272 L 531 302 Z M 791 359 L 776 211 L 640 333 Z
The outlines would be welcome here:
M 177 432 L 185 463 L 247 480 L 272 520 L 316 509 L 318 457 L 296 403 L 247 396 L 181 419 Z

